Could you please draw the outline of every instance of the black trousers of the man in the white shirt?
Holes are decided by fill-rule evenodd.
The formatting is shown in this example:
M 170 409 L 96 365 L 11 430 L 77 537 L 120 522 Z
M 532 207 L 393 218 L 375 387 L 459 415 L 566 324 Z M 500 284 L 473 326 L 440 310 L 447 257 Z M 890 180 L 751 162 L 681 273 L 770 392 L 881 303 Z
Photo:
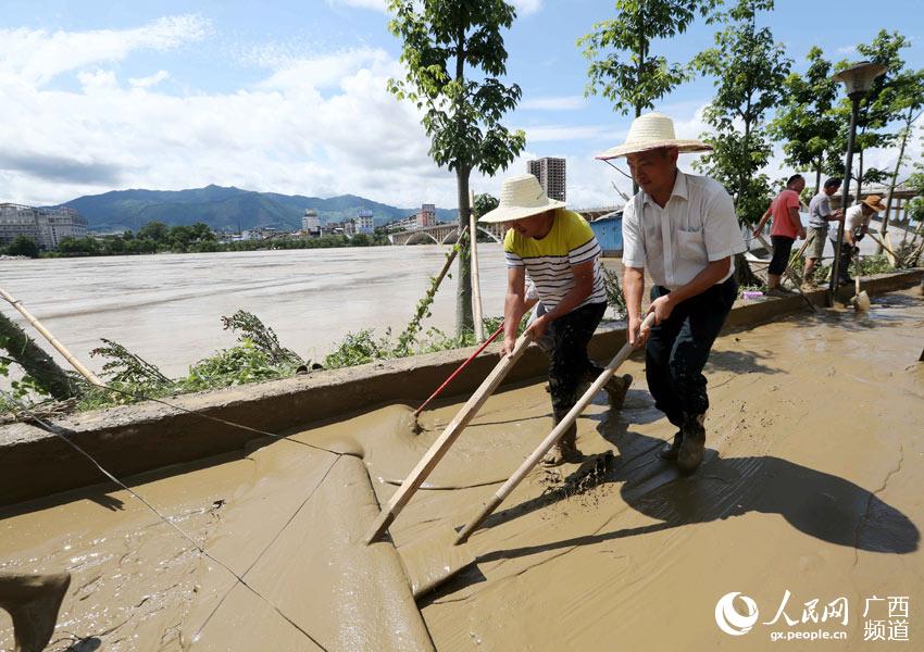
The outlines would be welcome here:
M 651 288 L 652 301 L 669 292 Z M 654 406 L 677 427 L 684 413 L 703 414 L 709 408 L 702 368 L 712 344 L 735 303 L 734 277 L 678 303 L 670 318 L 651 328 L 645 348 L 645 376 Z

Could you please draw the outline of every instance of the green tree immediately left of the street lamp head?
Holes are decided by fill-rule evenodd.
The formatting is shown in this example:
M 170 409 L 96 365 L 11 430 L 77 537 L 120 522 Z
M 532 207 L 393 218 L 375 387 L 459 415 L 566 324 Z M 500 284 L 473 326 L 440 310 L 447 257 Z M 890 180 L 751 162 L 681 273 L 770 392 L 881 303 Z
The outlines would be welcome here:
M 813 47 L 806 73 L 789 73 L 776 115 L 767 125 L 770 135 L 784 141 L 787 165 L 814 171 L 814 195 L 821 189 L 822 174 L 844 173 L 842 120 L 835 111 L 838 84 L 823 54 Z

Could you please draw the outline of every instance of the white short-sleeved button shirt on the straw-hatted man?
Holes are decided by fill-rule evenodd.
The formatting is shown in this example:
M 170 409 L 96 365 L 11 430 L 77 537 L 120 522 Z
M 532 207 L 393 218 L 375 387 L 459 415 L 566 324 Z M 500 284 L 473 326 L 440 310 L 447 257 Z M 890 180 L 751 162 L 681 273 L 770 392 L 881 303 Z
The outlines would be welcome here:
M 715 180 L 677 171 L 662 209 L 639 190 L 623 211 L 623 265 L 647 267 L 669 290 L 688 284 L 714 261 L 746 249 L 735 206 Z M 735 263 L 719 283 L 735 273 Z

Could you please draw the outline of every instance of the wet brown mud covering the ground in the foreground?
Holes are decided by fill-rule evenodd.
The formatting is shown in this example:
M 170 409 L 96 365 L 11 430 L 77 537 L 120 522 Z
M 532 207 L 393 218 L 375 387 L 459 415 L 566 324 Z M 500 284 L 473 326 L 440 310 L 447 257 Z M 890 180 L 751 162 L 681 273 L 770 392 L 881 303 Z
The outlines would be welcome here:
M 812 649 L 866 649 L 874 595 L 909 599 L 916 648 L 922 334 L 924 300 L 906 292 L 869 315 L 721 337 L 691 476 L 657 456 L 673 429 L 629 361 L 623 410 L 601 393 L 578 422 L 584 460 L 534 469 L 472 537 L 476 563 L 416 602 L 402 566 L 428 560 L 405 557 L 439 553 L 413 544 L 463 525 L 551 429 L 541 383 L 487 402 L 391 526 L 394 544 L 363 543 L 376 499 L 461 403 L 422 415 L 420 435 L 392 405 L 135 478 L 208 556 L 124 491 L 87 491 L 0 514 L 0 570 L 73 573 L 52 650 L 761 650 L 787 644 L 774 632 L 810 630 L 847 636 Z M 716 625 L 729 592 L 759 607 L 741 636 Z M 841 597 L 848 623 L 822 622 Z

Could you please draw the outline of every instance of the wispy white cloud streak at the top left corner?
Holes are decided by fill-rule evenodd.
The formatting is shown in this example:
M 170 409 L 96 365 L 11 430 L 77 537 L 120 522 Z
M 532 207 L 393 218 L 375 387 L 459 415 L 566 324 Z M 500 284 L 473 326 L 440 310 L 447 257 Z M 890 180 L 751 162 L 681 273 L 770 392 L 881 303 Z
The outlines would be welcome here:
M 200 40 L 210 29 L 211 24 L 197 15 L 165 16 L 123 30 L 0 29 L 0 84 L 40 86 L 68 71 L 120 61 L 133 50 L 167 50 Z

